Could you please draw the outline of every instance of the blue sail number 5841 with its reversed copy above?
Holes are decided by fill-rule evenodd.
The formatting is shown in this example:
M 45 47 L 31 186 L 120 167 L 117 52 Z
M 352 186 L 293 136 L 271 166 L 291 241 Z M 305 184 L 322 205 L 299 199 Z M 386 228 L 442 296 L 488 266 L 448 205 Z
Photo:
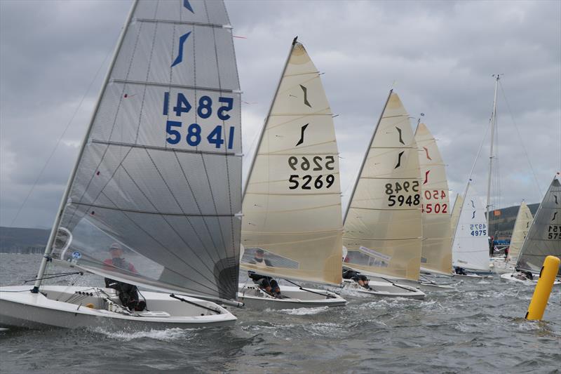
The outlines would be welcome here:
M 218 98 L 218 102 L 220 103 L 218 108 L 216 109 L 216 116 L 220 121 L 227 121 L 230 119 L 230 115 L 228 114 L 231 109 L 234 108 L 234 99 L 233 98 L 223 98 L 222 96 Z M 165 92 L 163 93 L 163 115 L 167 116 L 169 114 L 169 106 L 170 106 L 170 93 Z M 175 102 L 175 106 L 173 107 L 173 112 L 175 112 L 175 116 L 180 117 L 183 113 L 189 113 L 193 107 L 191 103 L 187 99 L 187 97 L 183 93 L 177 93 L 177 100 Z M 201 96 L 198 99 L 198 105 L 196 107 L 196 113 L 198 118 L 201 119 L 208 119 L 212 116 L 213 107 L 212 107 L 212 98 L 210 96 Z M 224 144 L 225 140 L 222 135 L 222 125 L 217 125 L 215 128 L 210 131 L 210 133 L 203 133 L 203 129 L 198 123 L 191 123 L 187 127 L 187 132 L 180 131 L 180 128 L 183 127 L 183 123 L 181 121 L 166 121 L 165 122 L 165 132 L 168 134 L 168 137 L 165 138 L 165 141 L 169 144 L 176 145 L 177 143 L 181 142 L 182 138 L 188 145 L 191 147 L 196 147 L 201 144 L 201 140 L 203 137 L 206 138 L 208 144 L 215 145 L 216 148 L 221 148 Z M 230 126 L 228 130 L 227 136 L 227 145 L 228 149 L 234 148 L 234 131 L 236 128 L 234 126 Z M 226 130 L 224 130 L 224 136 L 226 136 Z

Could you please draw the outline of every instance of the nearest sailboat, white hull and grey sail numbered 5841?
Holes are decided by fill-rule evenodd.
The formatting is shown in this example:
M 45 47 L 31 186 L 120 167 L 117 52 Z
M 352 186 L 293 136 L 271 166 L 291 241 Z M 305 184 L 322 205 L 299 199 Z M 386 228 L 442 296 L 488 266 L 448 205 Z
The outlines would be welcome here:
M 235 323 L 221 305 L 239 305 L 240 95 L 222 1 L 135 1 L 34 287 L 0 288 L 0 324 Z M 111 287 L 44 285 L 51 262 L 147 288 L 147 309 Z

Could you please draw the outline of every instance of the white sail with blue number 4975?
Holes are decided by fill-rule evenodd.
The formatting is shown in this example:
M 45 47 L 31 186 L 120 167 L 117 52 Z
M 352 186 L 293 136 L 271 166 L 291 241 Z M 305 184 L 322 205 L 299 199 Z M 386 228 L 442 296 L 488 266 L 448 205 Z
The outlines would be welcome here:
M 468 183 L 465 196 L 452 244 L 452 265 L 489 271 L 489 233 L 485 203 L 471 183 Z

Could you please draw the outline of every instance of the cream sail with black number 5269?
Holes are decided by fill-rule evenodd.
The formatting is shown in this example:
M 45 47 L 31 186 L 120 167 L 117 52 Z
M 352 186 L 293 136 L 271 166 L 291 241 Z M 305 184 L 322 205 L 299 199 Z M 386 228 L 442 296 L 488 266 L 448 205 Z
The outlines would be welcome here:
M 241 265 L 341 283 L 342 214 L 332 113 L 318 69 L 292 45 L 243 198 Z M 255 260 L 257 251 L 264 260 Z

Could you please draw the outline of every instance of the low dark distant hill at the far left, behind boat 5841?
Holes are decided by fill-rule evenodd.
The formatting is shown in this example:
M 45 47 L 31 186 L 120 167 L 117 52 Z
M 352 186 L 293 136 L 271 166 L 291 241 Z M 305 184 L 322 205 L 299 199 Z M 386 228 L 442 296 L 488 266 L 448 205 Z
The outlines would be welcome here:
M 43 253 L 50 229 L 0 226 L 0 253 Z

